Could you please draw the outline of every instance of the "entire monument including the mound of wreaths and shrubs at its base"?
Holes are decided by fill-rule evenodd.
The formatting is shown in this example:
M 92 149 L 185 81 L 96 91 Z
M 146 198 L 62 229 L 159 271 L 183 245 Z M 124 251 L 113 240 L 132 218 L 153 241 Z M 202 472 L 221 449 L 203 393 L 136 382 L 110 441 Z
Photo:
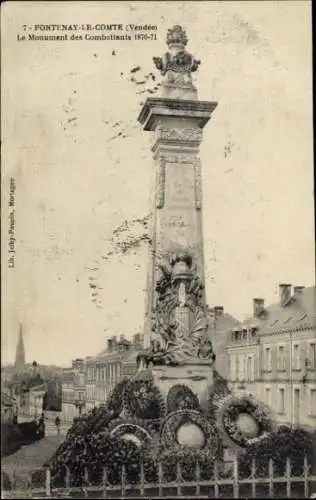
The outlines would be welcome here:
M 46 464 L 56 481 L 65 480 L 68 467 L 81 485 L 83 465 L 91 481 L 104 480 L 106 467 L 106 477 L 120 483 L 123 466 L 124 481 L 133 484 L 161 474 L 174 481 L 178 465 L 191 473 L 197 463 L 208 477 L 215 460 L 223 465 L 223 441 L 245 450 L 265 443 L 274 428 L 262 405 L 234 397 L 214 369 L 198 152 L 216 103 L 197 99 L 192 73 L 200 63 L 186 51 L 180 26 L 168 30 L 167 44 L 169 52 L 154 58 L 164 77 L 162 95 L 147 99 L 138 117 L 145 131 L 154 132 L 156 171 L 145 349 L 137 373 L 122 379 L 103 405 L 81 415 L 68 431 Z

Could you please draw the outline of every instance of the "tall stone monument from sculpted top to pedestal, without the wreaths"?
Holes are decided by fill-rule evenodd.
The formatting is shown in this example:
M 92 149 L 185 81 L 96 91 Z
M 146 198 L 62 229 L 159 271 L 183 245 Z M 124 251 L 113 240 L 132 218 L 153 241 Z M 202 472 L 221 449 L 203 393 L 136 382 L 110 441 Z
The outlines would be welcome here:
M 207 338 L 198 154 L 217 103 L 198 100 L 192 73 L 200 61 L 186 51 L 187 42 L 181 26 L 168 30 L 169 51 L 153 58 L 164 77 L 161 97 L 147 99 L 138 117 L 144 130 L 154 133 L 156 171 L 145 363 L 154 365 L 154 379 L 165 395 L 185 381 L 201 398 L 212 383 L 215 355 Z

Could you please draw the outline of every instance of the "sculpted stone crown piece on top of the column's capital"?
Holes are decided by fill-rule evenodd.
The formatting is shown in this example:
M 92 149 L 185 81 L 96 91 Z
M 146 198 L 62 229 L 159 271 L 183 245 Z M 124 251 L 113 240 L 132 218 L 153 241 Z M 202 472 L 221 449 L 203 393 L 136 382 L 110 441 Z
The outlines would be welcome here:
M 188 39 L 181 26 L 174 26 L 168 30 L 167 45 L 169 52 L 163 57 L 154 57 L 153 61 L 162 76 L 165 84 L 193 86 L 191 73 L 196 71 L 201 61 L 196 60 L 185 50 Z

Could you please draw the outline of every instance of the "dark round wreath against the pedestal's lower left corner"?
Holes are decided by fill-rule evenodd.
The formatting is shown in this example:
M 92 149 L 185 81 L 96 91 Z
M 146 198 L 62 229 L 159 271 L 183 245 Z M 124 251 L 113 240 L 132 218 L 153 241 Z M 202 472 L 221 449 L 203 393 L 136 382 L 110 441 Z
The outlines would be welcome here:
M 163 397 L 151 380 L 131 380 L 123 400 L 124 410 L 132 417 L 157 420 L 166 414 Z

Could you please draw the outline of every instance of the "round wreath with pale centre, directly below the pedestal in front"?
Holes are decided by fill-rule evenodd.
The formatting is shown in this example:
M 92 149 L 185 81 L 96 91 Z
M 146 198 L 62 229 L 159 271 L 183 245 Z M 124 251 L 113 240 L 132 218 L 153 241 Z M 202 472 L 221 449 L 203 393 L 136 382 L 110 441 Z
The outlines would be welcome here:
M 161 443 L 163 447 L 165 449 L 173 448 L 175 453 L 190 450 L 188 446 L 180 444 L 177 439 L 178 430 L 186 423 L 196 424 L 200 427 L 204 435 L 203 446 L 195 451 L 199 454 L 206 453 L 209 456 L 215 457 L 219 449 L 217 430 L 203 413 L 195 410 L 178 410 L 166 417 L 161 430 Z

